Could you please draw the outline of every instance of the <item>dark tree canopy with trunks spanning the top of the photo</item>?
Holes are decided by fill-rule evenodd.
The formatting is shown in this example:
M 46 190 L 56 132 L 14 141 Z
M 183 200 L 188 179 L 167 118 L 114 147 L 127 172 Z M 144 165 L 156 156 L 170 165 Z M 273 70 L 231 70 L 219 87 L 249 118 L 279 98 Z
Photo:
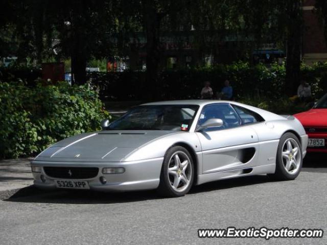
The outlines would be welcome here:
M 36 62 L 70 57 L 76 83 L 84 83 L 87 60 L 128 54 L 133 48 L 130 38 L 142 32 L 147 52 L 145 86 L 154 84 L 147 99 L 153 100 L 159 92 L 155 87 L 160 37 L 192 30 L 191 41 L 200 54 L 219 54 L 218 44 L 228 38 L 241 40 L 249 54 L 263 43 L 287 45 L 291 88 L 299 80 L 301 6 L 302 0 L 3 0 L 0 55 L 17 53 Z M 326 22 L 326 1 L 317 0 L 316 7 Z

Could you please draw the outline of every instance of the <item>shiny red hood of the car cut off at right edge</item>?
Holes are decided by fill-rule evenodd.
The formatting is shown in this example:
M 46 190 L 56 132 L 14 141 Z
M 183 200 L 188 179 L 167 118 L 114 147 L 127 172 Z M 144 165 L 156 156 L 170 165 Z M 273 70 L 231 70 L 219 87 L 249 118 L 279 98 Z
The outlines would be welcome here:
M 311 109 L 294 116 L 303 126 L 327 126 L 327 109 Z

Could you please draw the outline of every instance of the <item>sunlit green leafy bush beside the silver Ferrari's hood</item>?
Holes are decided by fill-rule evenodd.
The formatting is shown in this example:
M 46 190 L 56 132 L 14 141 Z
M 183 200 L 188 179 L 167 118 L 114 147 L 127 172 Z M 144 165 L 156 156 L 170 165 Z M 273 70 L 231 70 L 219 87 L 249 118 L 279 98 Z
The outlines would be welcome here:
M 0 158 L 35 155 L 58 140 L 100 129 L 109 117 L 88 85 L 3 82 L 0 91 Z

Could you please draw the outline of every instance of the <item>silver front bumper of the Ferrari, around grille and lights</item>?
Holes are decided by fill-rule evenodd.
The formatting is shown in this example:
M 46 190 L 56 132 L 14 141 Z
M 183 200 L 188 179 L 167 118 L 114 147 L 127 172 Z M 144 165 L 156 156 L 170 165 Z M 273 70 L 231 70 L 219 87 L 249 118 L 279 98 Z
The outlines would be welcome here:
M 99 173 L 91 179 L 69 179 L 87 181 L 90 190 L 97 191 L 130 191 L 130 190 L 148 190 L 159 186 L 159 177 L 163 157 L 130 162 L 51 162 L 51 161 L 32 161 L 31 165 L 41 166 L 41 173 L 33 173 L 34 185 L 44 189 L 55 189 L 54 180 L 67 180 L 61 178 L 52 178 L 45 174 L 44 166 L 54 167 L 98 167 Z M 104 167 L 124 167 L 122 174 L 102 174 Z M 43 175 L 45 181 L 42 182 L 40 176 Z M 103 184 L 100 177 L 105 177 L 107 183 Z

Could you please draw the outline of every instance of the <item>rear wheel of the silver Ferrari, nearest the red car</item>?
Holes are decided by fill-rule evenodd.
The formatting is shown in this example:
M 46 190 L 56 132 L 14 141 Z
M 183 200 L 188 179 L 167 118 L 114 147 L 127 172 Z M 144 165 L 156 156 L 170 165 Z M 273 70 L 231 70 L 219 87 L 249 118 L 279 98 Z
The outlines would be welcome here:
M 302 160 L 300 141 L 293 133 L 286 133 L 279 140 L 275 174 L 269 176 L 277 180 L 294 180 L 300 174 Z

